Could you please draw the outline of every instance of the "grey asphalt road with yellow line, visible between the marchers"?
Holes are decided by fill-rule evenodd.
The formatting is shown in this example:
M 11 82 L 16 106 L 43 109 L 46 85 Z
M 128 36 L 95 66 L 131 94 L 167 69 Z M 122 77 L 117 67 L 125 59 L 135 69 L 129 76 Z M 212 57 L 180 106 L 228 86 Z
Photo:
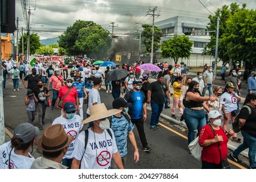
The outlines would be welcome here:
M 103 86 L 104 87 L 104 86 Z M 20 82 L 20 91 L 13 91 L 12 80 L 7 80 L 7 88 L 5 89 L 4 98 L 4 110 L 5 110 L 5 125 L 7 129 L 13 132 L 13 129 L 20 123 L 27 122 L 26 107 L 24 104 L 26 90 Z M 101 101 L 105 103 L 108 109 L 112 108 L 112 95 L 107 94 L 104 89 L 100 91 Z M 86 105 L 84 105 L 84 112 Z M 44 128 L 52 123 L 52 121 L 60 115 L 61 111 L 54 109 L 46 110 L 46 118 Z M 151 111 L 148 110 L 147 120 L 145 122 L 145 133 L 148 140 L 148 145 L 152 148 L 152 151 L 145 153 L 142 151 L 142 145 L 140 143 L 138 132 L 136 127 L 134 129 L 136 142 L 139 148 L 140 161 L 135 163 L 133 160 L 133 147 L 129 144 L 127 163 L 125 168 L 132 169 L 199 169 L 200 162 L 194 157 L 189 155 L 187 151 L 187 140 L 185 138 L 186 133 L 183 127 L 176 125 L 170 121 L 163 120 L 161 123 L 163 127 L 156 131 L 151 131 L 148 127 L 150 121 Z M 37 118 L 35 125 L 38 125 Z M 86 127 L 86 126 L 85 126 Z M 40 131 L 42 135 L 42 131 Z M 7 137 L 7 140 L 9 138 Z M 37 150 L 37 146 L 34 146 L 32 154 L 35 158 L 39 157 L 40 151 Z M 231 164 L 231 168 L 240 168 Z

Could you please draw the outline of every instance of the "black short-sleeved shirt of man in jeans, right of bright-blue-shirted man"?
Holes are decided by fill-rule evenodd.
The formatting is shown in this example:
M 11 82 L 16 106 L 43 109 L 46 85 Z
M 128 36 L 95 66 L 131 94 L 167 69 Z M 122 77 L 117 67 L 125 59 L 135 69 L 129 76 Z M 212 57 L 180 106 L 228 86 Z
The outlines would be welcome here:
M 151 103 L 164 104 L 165 103 L 165 92 L 168 91 L 165 83 L 159 83 L 154 81 L 148 86 L 148 90 L 151 90 Z

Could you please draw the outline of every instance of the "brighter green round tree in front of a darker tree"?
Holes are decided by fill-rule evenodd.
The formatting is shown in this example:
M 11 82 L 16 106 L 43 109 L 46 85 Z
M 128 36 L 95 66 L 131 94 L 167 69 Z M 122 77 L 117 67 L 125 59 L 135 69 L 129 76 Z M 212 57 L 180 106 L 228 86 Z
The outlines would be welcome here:
M 80 29 L 74 48 L 86 53 L 88 57 L 106 57 L 111 45 L 109 32 L 100 25 Z

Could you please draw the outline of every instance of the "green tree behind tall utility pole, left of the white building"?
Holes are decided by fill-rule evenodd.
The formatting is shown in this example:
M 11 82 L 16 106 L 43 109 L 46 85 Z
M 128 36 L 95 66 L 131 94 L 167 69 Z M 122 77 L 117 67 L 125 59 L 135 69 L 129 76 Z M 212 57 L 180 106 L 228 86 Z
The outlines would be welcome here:
M 144 46 L 142 49 L 144 49 L 145 53 L 151 53 L 151 47 L 152 47 L 152 25 L 143 24 L 142 25 L 143 31 L 142 31 L 142 42 Z M 155 52 L 160 47 L 160 41 L 161 37 L 163 36 L 163 32 L 158 27 L 154 26 L 154 34 L 153 34 L 153 51 Z

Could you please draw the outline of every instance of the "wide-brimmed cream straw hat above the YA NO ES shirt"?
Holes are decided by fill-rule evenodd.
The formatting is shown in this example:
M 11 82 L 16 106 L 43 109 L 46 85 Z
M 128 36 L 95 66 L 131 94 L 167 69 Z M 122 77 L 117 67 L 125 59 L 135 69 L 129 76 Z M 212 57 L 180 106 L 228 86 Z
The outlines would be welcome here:
M 106 117 L 112 116 L 114 114 L 118 114 L 119 112 L 121 112 L 120 109 L 107 110 L 104 103 L 93 105 L 89 108 L 89 113 L 90 113 L 89 118 L 84 120 L 82 122 L 82 124 L 93 122 L 95 120 L 100 120 L 102 118 L 106 118 Z

